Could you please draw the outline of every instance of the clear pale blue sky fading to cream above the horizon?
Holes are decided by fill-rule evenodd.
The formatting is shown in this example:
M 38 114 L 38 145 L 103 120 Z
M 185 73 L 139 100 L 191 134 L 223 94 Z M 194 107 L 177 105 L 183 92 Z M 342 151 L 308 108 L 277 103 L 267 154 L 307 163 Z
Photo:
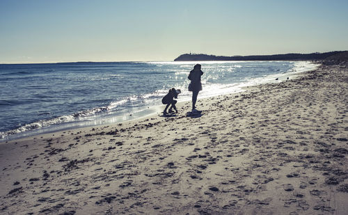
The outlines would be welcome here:
M 0 0 L 0 63 L 342 51 L 347 23 L 347 0 Z

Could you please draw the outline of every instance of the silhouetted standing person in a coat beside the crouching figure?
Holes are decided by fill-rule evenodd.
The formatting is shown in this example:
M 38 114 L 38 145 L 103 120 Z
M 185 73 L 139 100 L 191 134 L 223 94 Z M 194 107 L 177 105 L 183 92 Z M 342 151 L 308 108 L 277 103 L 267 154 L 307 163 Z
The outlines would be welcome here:
M 191 83 L 189 84 L 189 91 L 192 92 L 192 111 L 196 111 L 197 96 L 200 90 L 202 90 L 202 83 L 200 83 L 200 77 L 203 72 L 200 70 L 201 65 L 196 64 L 189 74 Z

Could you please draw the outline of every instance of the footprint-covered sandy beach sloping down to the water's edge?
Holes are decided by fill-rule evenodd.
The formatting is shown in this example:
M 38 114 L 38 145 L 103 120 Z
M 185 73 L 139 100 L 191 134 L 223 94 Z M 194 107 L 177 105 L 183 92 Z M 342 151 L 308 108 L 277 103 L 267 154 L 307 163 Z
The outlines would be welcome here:
M 347 214 L 347 68 L 189 106 L 1 143 L 0 214 Z

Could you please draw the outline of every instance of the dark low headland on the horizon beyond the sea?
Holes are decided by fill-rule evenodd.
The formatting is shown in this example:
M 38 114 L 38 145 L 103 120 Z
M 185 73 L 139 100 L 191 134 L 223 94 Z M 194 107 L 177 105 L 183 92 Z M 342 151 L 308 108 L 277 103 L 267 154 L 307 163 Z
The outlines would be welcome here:
M 330 51 L 311 54 L 273 54 L 252 56 L 215 56 L 208 54 L 182 54 L 174 61 L 324 61 L 333 56 L 347 56 L 348 51 Z

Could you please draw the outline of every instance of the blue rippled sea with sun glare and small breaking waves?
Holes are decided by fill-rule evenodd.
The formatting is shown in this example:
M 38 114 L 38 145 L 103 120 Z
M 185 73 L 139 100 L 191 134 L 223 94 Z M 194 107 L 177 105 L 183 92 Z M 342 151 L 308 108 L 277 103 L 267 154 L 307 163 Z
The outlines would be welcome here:
M 196 63 L 204 72 L 198 100 L 294 79 L 318 66 L 307 61 L 0 64 L 0 141 L 161 113 L 161 99 L 171 88 L 182 91 L 178 102 L 191 99 L 187 77 Z

